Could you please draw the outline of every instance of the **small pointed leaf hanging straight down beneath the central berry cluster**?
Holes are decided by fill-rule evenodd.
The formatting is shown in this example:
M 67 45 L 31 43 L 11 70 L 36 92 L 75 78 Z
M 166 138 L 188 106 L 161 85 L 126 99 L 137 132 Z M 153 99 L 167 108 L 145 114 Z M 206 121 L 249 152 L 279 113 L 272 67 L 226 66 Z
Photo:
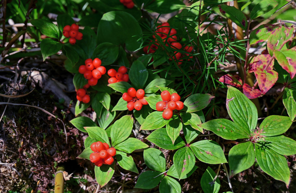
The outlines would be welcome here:
M 166 124 L 166 131 L 173 144 L 177 137 L 179 137 L 182 127 L 182 123 L 178 116 L 173 116 L 173 119 L 169 119 L 169 122 Z

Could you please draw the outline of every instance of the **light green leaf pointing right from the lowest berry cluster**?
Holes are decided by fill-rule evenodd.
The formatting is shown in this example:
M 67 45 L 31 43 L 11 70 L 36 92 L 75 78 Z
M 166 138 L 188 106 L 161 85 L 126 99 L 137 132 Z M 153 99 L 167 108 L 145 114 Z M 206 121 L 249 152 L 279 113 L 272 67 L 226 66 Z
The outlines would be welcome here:
M 144 149 L 149 147 L 146 143 L 141 142 L 140 140 L 129 137 L 123 142 L 117 144 L 114 148 L 126 153 L 132 153 L 134 150 Z

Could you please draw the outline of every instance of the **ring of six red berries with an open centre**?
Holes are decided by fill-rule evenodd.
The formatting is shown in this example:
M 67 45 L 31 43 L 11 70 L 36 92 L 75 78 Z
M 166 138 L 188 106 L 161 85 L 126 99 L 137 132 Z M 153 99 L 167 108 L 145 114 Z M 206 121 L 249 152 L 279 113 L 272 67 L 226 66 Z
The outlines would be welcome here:
M 125 100 L 128 104 L 126 105 L 129 111 L 136 109 L 140 111 L 143 105 L 148 105 L 147 100 L 144 98 L 145 91 L 139 89 L 136 91 L 133 87 L 128 89 L 127 93 L 123 93 L 122 99 Z

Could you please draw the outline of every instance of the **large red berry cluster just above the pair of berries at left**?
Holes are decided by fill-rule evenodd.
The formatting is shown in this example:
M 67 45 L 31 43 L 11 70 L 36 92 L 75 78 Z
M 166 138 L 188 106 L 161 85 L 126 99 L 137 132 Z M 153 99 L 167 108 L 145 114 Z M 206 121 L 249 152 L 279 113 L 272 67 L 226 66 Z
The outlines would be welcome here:
M 81 65 L 78 72 L 88 80 L 88 87 L 95 86 L 102 75 L 106 73 L 106 68 L 101 66 L 102 61 L 98 58 L 86 59 L 84 63 L 85 65 Z

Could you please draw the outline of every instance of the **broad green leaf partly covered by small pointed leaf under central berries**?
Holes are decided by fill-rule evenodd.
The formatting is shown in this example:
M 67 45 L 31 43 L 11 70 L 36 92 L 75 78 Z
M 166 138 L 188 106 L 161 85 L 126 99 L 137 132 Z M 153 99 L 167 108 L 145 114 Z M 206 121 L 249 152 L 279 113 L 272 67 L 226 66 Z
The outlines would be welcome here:
M 180 136 L 177 137 L 175 143 L 173 144 L 165 128 L 156 129 L 148 137 L 146 137 L 146 139 L 154 143 L 158 147 L 166 150 L 176 150 L 181 147 L 184 147 L 185 145 L 184 141 Z

